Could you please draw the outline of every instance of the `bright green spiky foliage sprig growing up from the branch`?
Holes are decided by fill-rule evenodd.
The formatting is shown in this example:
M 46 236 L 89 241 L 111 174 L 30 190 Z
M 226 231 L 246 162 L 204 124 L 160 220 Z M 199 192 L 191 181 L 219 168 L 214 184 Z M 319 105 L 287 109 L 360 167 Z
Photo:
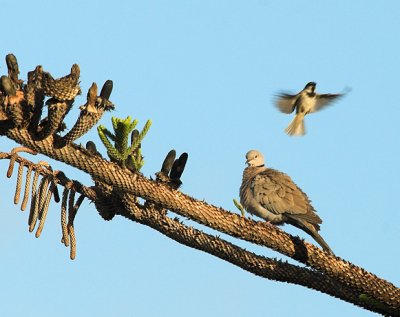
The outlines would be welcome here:
M 127 166 L 133 171 L 140 171 L 144 164 L 140 145 L 150 129 L 151 120 L 147 120 L 140 133 L 135 130 L 138 120 L 132 121 L 129 116 L 126 119 L 112 117 L 111 122 L 114 133 L 103 125 L 97 128 L 100 140 L 106 147 L 110 160 L 122 167 Z M 129 135 L 131 135 L 130 146 L 128 146 Z

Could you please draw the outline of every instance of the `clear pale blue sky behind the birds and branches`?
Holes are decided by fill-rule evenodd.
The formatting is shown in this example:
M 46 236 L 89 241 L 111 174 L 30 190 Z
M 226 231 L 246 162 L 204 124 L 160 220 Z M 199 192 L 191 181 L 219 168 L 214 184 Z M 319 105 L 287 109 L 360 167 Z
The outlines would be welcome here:
M 166 153 L 189 153 L 182 191 L 233 212 L 245 153 L 289 174 L 323 219 L 334 252 L 400 285 L 399 1 L 10 1 L 0 2 L 4 57 L 21 77 L 43 65 L 55 77 L 81 68 L 83 96 L 93 81 L 114 81 L 111 116 L 147 119 L 143 173 Z M 284 132 L 292 116 L 273 96 L 352 91 L 306 118 L 308 133 Z M 95 140 L 95 129 L 82 137 Z M 16 144 L 0 140 L 0 150 Z M 29 155 L 25 155 L 29 158 Z M 34 161 L 43 157 L 30 157 Z M 59 162 L 71 177 L 90 178 Z M 52 203 L 40 239 L 14 206 L 16 175 L 0 162 L 1 316 L 372 316 L 304 287 L 256 277 L 120 217 L 103 221 L 85 201 L 77 215 L 77 259 L 60 243 Z M 186 223 L 189 223 L 185 220 Z M 295 228 L 284 230 L 314 241 Z M 208 230 L 208 232 L 210 232 Z M 266 248 L 230 239 L 268 257 Z

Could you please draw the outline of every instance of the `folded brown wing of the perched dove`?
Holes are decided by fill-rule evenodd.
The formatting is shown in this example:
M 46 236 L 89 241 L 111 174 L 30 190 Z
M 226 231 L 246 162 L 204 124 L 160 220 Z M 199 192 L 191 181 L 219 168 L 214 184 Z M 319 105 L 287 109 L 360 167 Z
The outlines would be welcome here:
M 252 182 L 254 199 L 274 214 L 289 214 L 312 224 L 320 224 L 307 195 L 291 180 L 277 170 L 266 169 Z

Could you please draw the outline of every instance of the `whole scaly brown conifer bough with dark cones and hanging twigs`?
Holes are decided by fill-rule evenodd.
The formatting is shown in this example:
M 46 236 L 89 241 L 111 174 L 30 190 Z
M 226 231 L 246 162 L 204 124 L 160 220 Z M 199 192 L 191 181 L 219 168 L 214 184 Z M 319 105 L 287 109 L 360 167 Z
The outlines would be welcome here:
M 327 254 L 272 224 L 255 222 L 185 195 L 174 189 L 179 186 L 179 179 L 176 180 L 175 187 L 168 181 L 164 183 L 161 178 L 153 181 L 139 172 L 125 168 L 125 164 L 120 166 L 107 161 L 74 144 L 73 140 L 86 133 L 101 118 L 105 110 L 113 109 L 114 105 L 108 100 L 110 89 L 107 96 L 101 93 L 100 97 L 96 96 L 97 89 L 89 90 L 87 102 L 81 107 L 77 123 L 71 129 L 74 133 L 70 135 L 70 131 L 67 138 L 57 134 L 63 124 L 64 112 L 57 116 L 49 115 L 47 119 L 39 122 L 44 106 L 44 96 L 72 104 L 76 94 L 80 93 L 78 80 L 79 67 L 77 65 L 73 66 L 70 75 L 57 80 L 38 66 L 35 71 L 29 73 L 28 83 L 25 86 L 15 74 L 2 77 L 0 135 L 24 145 L 30 151 L 44 154 L 80 169 L 94 180 L 94 186 L 86 187 L 77 181 L 69 180 L 62 172 L 54 172 L 49 166 L 43 167 L 41 164 L 24 160 L 16 152 L 0 153 L 0 159 L 10 159 L 8 175 L 12 173 L 14 162 L 20 164 L 15 202 L 19 201 L 24 166 L 28 168 L 29 177 L 31 172 L 35 171 L 32 190 L 35 198 L 32 199 L 29 221 L 30 228 L 33 230 L 36 219 L 40 220 L 37 236 L 43 229 L 51 196 L 53 194 L 58 196 L 56 184 L 59 183 L 66 188 L 63 193 L 61 218 L 63 242 L 68 244 L 67 235 L 71 241 L 71 258 L 75 257 L 76 251 L 73 221 L 82 199 L 87 197 L 94 201 L 100 215 L 106 220 L 119 214 L 149 226 L 179 243 L 217 256 L 256 275 L 303 285 L 371 311 L 400 316 L 400 289 L 392 283 L 348 261 Z M 94 83 L 92 87 L 97 86 Z M 57 102 L 51 104 L 53 107 L 57 107 L 56 105 L 58 105 Z M 187 154 L 182 159 L 184 163 L 186 159 Z M 36 189 L 39 174 L 43 176 L 43 179 Z M 168 178 L 168 176 L 165 177 Z M 80 192 L 82 196 L 74 203 L 75 192 Z M 27 193 L 25 188 L 21 209 L 26 206 Z M 68 223 L 66 223 L 68 195 L 69 215 Z M 144 206 L 138 203 L 137 197 L 146 201 Z M 261 257 L 221 238 L 187 227 L 178 220 L 169 218 L 167 210 L 232 237 L 276 250 L 312 269 Z

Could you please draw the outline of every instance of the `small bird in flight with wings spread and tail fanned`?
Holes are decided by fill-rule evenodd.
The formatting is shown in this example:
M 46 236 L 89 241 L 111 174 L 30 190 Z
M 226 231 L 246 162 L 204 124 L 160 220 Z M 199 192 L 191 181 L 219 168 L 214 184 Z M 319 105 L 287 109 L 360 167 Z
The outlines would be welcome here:
M 315 82 L 309 82 L 302 91 L 296 95 L 280 93 L 276 98 L 276 106 L 283 113 L 292 113 L 296 109 L 296 116 L 285 132 L 289 135 L 304 135 L 304 117 L 321 110 L 331 102 L 342 97 L 342 94 L 317 94 L 315 92 Z

